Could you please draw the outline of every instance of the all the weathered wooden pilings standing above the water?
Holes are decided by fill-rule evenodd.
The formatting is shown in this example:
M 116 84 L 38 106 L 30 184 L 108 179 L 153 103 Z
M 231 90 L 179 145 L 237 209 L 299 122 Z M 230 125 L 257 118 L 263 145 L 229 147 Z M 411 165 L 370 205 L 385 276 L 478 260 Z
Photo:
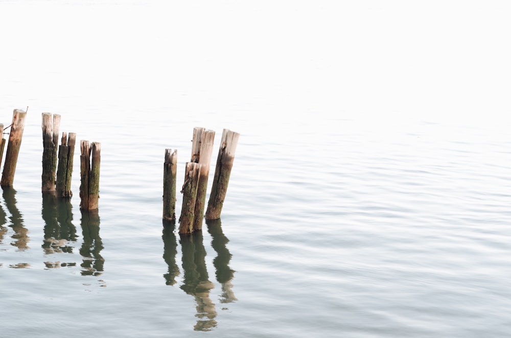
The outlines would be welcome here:
M 27 110 L 14 109 L 9 132 L 9 142 L 4 162 L 4 170 L 0 186 L 12 186 L 16 162 L 25 128 Z M 5 128 L 5 129 L 7 129 Z M 41 191 L 43 194 L 54 194 L 59 198 L 71 198 L 71 178 L 73 174 L 73 158 L 76 143 L 75 133 L 62 133 L 59 141 L 60 115 L 42 113 L 42 175 Z M 4 125 L 0 124 L 0 163 L 2 163 L 6 139 Z M 194 128 L 192 140 L 192 156 L 186 162 L 181 215 L 179 217 L 179 233 L 187 234 L 202 229 L 202 219 L 217 220 L 223 207 L 234 155 L 240 134 L 224 129 L 220 141 L 214 181 L 212 184 L 207 209 L 204 213 L 207 179 L 210 172 L 211 154 L 215 132 L 205 128 Z M 87 140 L 80 141 L 80 209 L 98 209 L 99 177 L 101 163 L 101 143 Z M 58 165 L 57 165 L 58 164 Z M 176 221 L 176 173 L 177 150 L 165 150 L 164 162 L 164 194 L 163 219 Z

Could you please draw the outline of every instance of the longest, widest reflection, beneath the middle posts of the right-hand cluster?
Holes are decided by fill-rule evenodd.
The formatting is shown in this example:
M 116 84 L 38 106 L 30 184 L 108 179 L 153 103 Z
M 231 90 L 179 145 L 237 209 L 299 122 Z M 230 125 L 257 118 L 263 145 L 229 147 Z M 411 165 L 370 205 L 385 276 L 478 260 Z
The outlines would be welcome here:
M 215 285 L 208 280 L 206 270 L 206 250 L 202 244 L 200 231 L 192 234 L 180 235 L 182 264 L 184 270 L 183 285 L 181 289 L 195 297 L 197 315 L 199 318 L 194 326 L 195 331 L 210 331 L 217 326 L 215 320 L 217 311 L 211 301 L 210 291 Z

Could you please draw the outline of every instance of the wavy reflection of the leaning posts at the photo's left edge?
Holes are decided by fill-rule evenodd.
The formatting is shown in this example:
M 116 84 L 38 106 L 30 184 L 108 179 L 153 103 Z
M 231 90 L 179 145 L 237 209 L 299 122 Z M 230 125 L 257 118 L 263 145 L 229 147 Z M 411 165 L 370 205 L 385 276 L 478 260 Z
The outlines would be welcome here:
M 28 229 L 26 229 L 23 225 L 23 218 L 22 214 L 19 212 L 18 208 L 16 207 L 16 190 L 14 190 L 13 187 L 2 187 L 3 192 L 2 196 L 5 201 L 5 205 L 7 207 L 7 210 L 11 214 L 9 217 L 9 220 L 11 221 L 11 224 L 9 227 L 11 227 L 14 231 L 12 234 L 13 242 L 11 243 L 12 246 L 16 247 L 16 251 L 25 251 L 27 249 L 30 249 L 28 246 L 28 243 L 30 242 L 30 237 L 28 236 Z M 2 215 L 0 217 L 3 217 L 4 220 L 6 218 L 5 212 L 2 210 Z M 5 229 L 5 227 L 4 227 Z M 10 268 L 14 269 L 22 269 L 22 268 L 29 268 L 29 263 L 18 263 L 9 265 Z

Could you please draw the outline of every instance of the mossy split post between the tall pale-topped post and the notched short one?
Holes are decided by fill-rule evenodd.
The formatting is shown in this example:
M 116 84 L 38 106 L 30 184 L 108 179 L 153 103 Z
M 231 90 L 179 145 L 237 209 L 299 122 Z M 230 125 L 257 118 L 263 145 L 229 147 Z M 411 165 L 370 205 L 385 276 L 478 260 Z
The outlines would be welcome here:
M 76 133 L 62 133 L 59 147 L 59 165 L 57 170 L 57 197 L 72 197 L 71 177 L 73 175 L 73 157 L 75 153 Z

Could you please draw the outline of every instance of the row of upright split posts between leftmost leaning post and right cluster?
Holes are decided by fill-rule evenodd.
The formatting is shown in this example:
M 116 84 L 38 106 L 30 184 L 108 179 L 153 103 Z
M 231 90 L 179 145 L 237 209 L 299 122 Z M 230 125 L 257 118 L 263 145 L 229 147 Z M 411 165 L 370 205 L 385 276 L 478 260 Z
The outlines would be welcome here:
M 44 193 L 60 198 L 71 198 L 71 177 L 76 134 L 62 133 L 58 145 L 60 115 L 42 113 L 42 187 Z M 57 152 L 58 148 L 58 152 Z M 80 141 L 80 209 L 98 209 L 101 143 Z M 58 155 L 58 156 L 57 156 Z M 58 166 L 57 166 L 58 162 Z

